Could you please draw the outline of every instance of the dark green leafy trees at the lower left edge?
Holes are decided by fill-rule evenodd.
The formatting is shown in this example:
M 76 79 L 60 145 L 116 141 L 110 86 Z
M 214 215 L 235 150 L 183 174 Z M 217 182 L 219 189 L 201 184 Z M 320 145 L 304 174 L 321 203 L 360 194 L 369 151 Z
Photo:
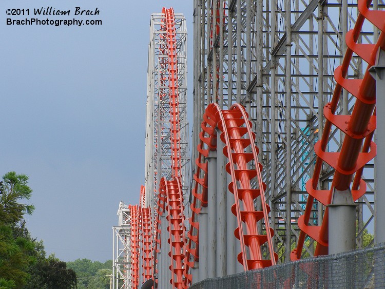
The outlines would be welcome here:
M 10 171 L 0 182 L 0 289 L 76 288 L 76 274 L 53 255 L 46 258 L 43 241 L 32 239 L 24 215 L 32 214 L 28 176 Z

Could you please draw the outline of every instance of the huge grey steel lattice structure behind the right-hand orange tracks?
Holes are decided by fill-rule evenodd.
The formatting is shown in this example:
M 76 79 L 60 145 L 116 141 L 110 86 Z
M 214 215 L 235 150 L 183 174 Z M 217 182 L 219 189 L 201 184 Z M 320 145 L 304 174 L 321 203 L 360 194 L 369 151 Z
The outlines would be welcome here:
M 382 5 L 374 3 L 376 9 Z M 314 171 L 314 144 L 324 130 L 322 108 L 331 100 L 333 72 L 347 51 L 345 35 L 357 14 L 357 2 L 348 0 L 194 2 L 193 147 L 200 143 L 209 103 L 224 109 L 235 102 L 246 107 L 264 166 L 262 179 L 280 262 L 290 260 L 299 238 L 297 221 L 307 201 L 305 183 Z M 378 29 L 367 24 L 358 42 L 374 43 L 376 35 Z M 354 55 L 347 77 L 360 79 L 365 68 Z M 336 114 L 351 114 L 354 99 L 343 89 Z M 343 138 L 332 126 L 326 150 L 339 151 Z M 197 150 L 192 157 L 198 157 Z M 318 188 L 330 189 L 333 175 L 334 168 L 324 163 Z M 373 161 L 365 165 L 362 179 L 367 194 L 357 202 L 357 247 L 374 219 Z M 314 202 L 310 218 L 314 225 L 320 224 L 324 209 Z M 305 253 L 314 255 L 312 240 L 305 242 Z

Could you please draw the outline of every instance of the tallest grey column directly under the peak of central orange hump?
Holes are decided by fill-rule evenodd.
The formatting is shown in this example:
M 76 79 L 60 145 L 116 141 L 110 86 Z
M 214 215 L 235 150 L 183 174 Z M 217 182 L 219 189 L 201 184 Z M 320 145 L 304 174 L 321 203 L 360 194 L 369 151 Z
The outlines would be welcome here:
M 223 155 L 224 143 L 217 138 L 217 277 L 226 276 L 226 196 L 227 172 L 226 158 Z

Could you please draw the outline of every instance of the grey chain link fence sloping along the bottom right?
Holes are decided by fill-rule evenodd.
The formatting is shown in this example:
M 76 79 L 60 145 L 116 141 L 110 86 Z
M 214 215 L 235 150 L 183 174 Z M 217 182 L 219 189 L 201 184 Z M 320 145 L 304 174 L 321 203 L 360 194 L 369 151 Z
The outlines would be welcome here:
M 385 288 L 385 243 L 337 255 L 209 278 L 190 289 Z

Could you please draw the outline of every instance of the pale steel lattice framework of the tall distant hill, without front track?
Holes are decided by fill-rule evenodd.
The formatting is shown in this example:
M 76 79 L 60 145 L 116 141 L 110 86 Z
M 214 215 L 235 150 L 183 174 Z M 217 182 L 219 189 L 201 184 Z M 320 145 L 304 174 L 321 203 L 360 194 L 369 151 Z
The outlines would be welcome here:
M 187 30 L 182 14 L 175 13 L 177 87 L 180 130 L 180 177 L 186 192 L 189 186 L 190 158 L 187 122 Z M 148 46 L 147 112 L 145 143 L 146 206 L 156 206 L 161 178 L 171 179 L 171 104 L 165 14 L 153 13 Z M 185 193 L 186 194 L 186 193 Z M 152 215 L 154 216 L 154 215 Z

